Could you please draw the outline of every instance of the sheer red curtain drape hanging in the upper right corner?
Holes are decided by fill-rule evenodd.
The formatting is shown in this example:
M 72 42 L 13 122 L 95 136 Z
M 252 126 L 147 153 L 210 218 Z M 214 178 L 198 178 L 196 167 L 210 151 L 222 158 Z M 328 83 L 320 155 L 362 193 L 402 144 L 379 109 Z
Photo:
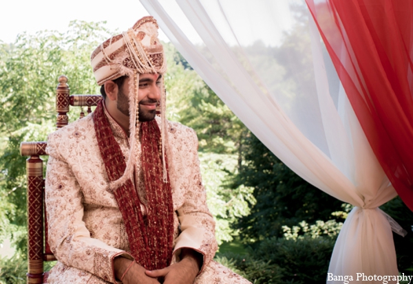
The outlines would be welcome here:
M 413 211 L 413 1 L 306 3 L 377 160 Z

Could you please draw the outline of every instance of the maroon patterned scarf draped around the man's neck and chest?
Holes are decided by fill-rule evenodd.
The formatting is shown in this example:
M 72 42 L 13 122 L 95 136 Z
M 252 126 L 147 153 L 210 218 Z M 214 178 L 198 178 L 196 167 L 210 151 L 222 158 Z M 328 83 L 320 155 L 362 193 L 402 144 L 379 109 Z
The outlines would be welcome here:
M 122 177 L 126 169 L 125 157 L 114 138 L 105 116 L 103 101 L 93 114 L 94 129 L 100 155 L 109 182 Z M 142 201 L 134 182 L 127 182 L 113 193 L 122 214 L 131 255 L 147 270 L 158 270 L 171 263 L 173 250 L 173 201 L 169 175 L 163 182 L 161 135 L 156 120 L 140 123 L 141 168 L 143 171 L 147 215 L 142 214 Z M 129 157 L 131 159 L 133 157 Z M 165 155 L 166 168 L 167 157 Z

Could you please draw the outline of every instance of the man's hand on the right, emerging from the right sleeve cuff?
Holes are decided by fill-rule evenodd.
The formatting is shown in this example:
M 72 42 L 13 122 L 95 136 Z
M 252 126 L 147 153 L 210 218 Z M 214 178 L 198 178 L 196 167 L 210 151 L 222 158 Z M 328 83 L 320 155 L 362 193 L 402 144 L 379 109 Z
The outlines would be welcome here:
M 202 254 L 184 248 L 182 260 L 161 270 L 145 271 L 147 276 L 164 278 L 163 284 L 193 284 L 202 266 Z

